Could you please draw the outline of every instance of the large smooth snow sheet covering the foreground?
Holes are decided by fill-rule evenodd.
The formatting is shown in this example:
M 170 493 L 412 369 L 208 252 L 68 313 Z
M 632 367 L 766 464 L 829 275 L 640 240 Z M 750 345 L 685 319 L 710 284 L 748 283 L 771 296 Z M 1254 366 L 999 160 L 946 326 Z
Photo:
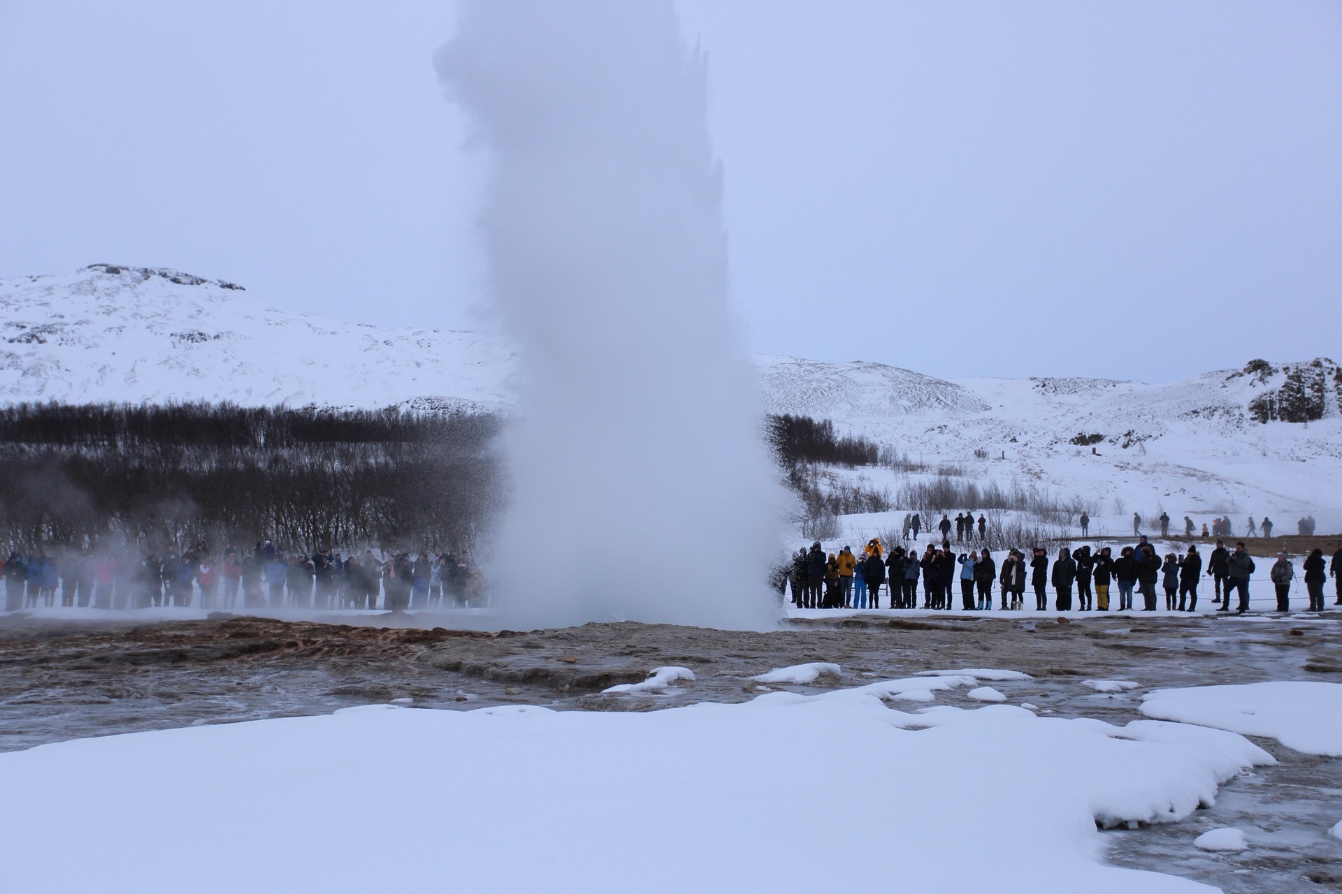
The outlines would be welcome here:
M 918 772 L 797 760 L 835 743 Z M 0 890 L 213 894 L 263 879 L 333 894 L 1209 893 L 1104 865 L 1096 822 L 1182 819 L 1268 761 L 1202 726 L 1009 705 L 905 713 L 868 688 L 648 713 L 380 709 L 223 724 L 0 755 L 5 820 L 60 830 L 0 838 Z M 844 818 L 843 847 L 796 846 L 788 830 L 816 816 Z M 395 834 L 352 847 L 350 822 Z M 966 823 L 1031 834 L 966 848 L 946 838 Z M 640 828 L 674 828 L 675 846 L 629 846 Z M 150 846 L 145 830 L 196 832 Z

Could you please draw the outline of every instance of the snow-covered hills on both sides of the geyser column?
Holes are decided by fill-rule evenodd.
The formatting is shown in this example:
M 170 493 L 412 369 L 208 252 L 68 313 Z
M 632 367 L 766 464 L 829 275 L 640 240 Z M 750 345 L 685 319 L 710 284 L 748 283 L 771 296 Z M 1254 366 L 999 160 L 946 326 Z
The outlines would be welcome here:
M 0 280 L 0 401 L 235 401 L 503 409 L 501 338 L 353 326 L 238 285 L 95 264 Z M 1166 385 L 950 382 L 880 363 L 756 358 L 765 407 L 832 418 L 931 466 L 1024 478 L 1111 515 L 1314 512 L 1342 529 L 1342 370 L 1268 363 Z M 875 484 L 894 472 L 867 472 Z M 1117 497 L 1117 501 L 1115 501 Z M 1240 521 L 1243 524 L 1243 520 Z

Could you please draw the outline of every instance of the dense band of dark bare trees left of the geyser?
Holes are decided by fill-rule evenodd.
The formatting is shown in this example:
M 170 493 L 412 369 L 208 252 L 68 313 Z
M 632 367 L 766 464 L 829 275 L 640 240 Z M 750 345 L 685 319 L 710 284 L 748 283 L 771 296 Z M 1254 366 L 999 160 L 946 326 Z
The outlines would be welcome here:
M 501 505 L 498 420 L 399 410 L 0 407 L 0 544 L 180 548 L 266 536 L 468 551 Z

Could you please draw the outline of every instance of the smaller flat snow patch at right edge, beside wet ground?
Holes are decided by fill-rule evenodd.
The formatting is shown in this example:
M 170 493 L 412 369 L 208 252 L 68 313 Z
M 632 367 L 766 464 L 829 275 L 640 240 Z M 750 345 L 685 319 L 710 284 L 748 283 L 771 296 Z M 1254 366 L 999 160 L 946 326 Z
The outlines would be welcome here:
M 1142 696 L 1142 713 L 1268 736 L 1307 755 L 1342 756 L 1342 684 L 1282 681 L 1157 689 Z

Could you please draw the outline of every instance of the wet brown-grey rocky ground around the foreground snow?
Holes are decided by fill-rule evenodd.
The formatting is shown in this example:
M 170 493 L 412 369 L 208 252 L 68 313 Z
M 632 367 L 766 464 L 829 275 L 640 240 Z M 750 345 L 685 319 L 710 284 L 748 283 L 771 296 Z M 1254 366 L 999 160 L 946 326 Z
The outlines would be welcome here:
M 872 614 L 792 622 L 770 633 L 593 623 L 497 634 L 231 617 L 134 625 L 11 615 L 0 618 L 0 751 L 391 701 L 440 709 L 535 704 L 654 710 L 962 667 L 1033 676 L 992 682 L 1009 704 L 1125 724 L 1139 717 L 1141 696 L 1153 688 L 1342 682 L 1338 633 L 1335 619 L 1311 615 L 1247 621 L 1138 614 L 1059 623 L 1047 614 L 1012 621 Z M 839 663 L 844 677 L 823 677 L 813 686 L 750 680 L 817 661 Z M 666 693 L 601 692 L 668 665 L 690 667 L 695 681 Z M 1127 680 L 1139 688 L 1099 693 L 1083 680 Z M 965 689 L 938 693 L 937 702 L 981 706 Z M 1255 741 L 1280 763 L 1228 783 L 1213 807 L 1182 823 L 1106 832 L 1111 860 L 1227 891 L 1342 890 L 1342 842 L 1327 834 L 1342 820 L 1342 760 Z M 986 744 L 986 760 L 990 751 Z M 1243 830 L 1248 850 L 1213 854 L 1193 847 L 1197 835 L 1221 826 Z

